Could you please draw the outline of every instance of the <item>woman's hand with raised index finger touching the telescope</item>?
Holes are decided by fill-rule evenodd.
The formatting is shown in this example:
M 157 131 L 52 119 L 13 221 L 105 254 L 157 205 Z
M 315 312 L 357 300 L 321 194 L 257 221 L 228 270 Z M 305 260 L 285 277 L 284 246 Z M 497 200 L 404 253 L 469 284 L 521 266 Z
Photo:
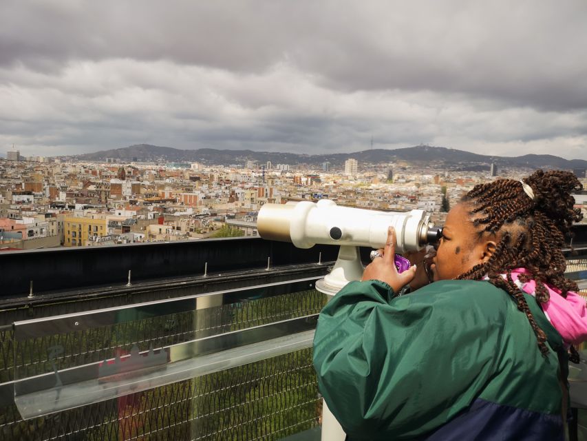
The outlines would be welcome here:
M 381 257 L 376 257 L 365 268 L 363 272 L 363 278 L 361 280 L 381 280 L 381 282 L 387 283 L 394 293 L 398 291 L 408 283 L 414 280 L 416 275 L 417 267 L 410 267 L 403 273 L 398 274 L 396 265 L 394 263 L 394 256 L 396 251 L 396 230 L 394 227 L 389 227 L 387 230 L 387 243 L 385 248 L 379 250 Z

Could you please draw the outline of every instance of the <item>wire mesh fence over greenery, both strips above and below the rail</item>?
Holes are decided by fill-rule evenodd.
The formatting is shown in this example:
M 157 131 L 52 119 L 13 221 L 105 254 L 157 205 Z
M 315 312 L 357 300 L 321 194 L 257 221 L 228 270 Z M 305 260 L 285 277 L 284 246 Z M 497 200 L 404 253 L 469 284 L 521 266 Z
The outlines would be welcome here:
M 14 342 L 0 329 L 0 382 L 98 362 L 134 346 L 162 347 L 317 314 L 315 290 Z M 16 345 L 16 347 L 14 346 Z M 56 353 L 55 347 L 60 347 Z M 279 440 L 319 424 L 311 349 L 21 420 L 0 407 L 2 440 Z

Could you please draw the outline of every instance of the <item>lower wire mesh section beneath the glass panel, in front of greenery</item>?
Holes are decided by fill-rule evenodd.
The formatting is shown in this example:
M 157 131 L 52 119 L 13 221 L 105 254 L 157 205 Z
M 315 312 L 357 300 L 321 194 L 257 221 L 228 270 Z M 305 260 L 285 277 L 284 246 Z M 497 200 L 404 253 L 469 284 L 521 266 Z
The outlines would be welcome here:
M 279 440 L 319 424 L 311 349 L 207 376 L 19 420 L 0 413 L 2 440 Z

